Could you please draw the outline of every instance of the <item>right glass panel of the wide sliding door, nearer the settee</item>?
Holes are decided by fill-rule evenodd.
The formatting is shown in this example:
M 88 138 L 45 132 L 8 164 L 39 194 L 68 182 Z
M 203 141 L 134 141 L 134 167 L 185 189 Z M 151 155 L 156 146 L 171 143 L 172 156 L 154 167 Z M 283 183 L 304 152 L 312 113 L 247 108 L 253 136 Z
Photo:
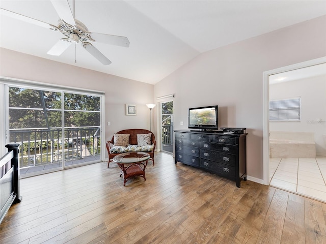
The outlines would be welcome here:
M 100 159 L 100 97 L 64 94 L 65 165 Z

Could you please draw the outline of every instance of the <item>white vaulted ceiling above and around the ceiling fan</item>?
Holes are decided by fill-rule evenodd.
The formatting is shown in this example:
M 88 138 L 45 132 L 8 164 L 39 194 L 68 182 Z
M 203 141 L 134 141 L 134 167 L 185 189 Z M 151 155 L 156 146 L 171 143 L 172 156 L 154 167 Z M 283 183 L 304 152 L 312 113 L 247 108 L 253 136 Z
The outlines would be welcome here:
M 72 8 L 73 2 L 68 2 Z M 59 20 L 49 0 L 1 0 L 0 7 L 53 25 Z M 313 0 L 76 0 L 75 18 L 90 32 L 129 39 L 128 48 L 93 43 L 112 64 L 102 65 L 80 44 L 71 45 L 60 56 L 48 55 L 46 52 L 64 37 L 61 33 L 4 15 L 0 46 L 155 84 L 200 53 L 325 14 L 326 1 Z

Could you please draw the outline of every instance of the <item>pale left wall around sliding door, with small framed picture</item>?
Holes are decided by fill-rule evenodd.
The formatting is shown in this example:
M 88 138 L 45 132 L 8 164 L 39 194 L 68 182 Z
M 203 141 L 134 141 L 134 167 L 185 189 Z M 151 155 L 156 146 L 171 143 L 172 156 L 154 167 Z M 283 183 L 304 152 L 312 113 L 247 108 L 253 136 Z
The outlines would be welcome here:
M 149 130 L 146 104 L 153 103 L 154 85 L 4 48 L 0 48 L 0 64 L 0 76 L 104 91 L 105 141 L 111 140 L 113 134 L 120 130 Z M 126 104 L 137 105 L 137 116 L 126 116 Z M 108 121 L 111 126 L 107 126 Z

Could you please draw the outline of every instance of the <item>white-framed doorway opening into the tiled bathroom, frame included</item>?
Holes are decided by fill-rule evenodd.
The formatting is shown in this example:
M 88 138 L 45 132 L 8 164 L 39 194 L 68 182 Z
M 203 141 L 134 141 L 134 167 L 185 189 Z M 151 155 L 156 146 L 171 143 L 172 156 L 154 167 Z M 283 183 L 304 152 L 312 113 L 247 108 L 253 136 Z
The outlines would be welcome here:
M 264 184 L 322 201 L 326 201 L 325 62 L 318 58 L 264 72 Z M 294 98 L 300 98 L 300 104 L 287 104 Z M 296 150 L 302 143 L 305 149 Z

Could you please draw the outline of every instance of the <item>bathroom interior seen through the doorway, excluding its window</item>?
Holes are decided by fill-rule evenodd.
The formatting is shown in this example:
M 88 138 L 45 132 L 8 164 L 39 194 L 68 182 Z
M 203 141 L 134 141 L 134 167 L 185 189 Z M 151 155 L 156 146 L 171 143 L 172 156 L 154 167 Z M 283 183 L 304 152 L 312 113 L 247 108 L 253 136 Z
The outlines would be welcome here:
M 294 99 L 298 117 L 269 120 L 270 185 L 326 202 L 326 64 L 269 76 L 269 101 Z

